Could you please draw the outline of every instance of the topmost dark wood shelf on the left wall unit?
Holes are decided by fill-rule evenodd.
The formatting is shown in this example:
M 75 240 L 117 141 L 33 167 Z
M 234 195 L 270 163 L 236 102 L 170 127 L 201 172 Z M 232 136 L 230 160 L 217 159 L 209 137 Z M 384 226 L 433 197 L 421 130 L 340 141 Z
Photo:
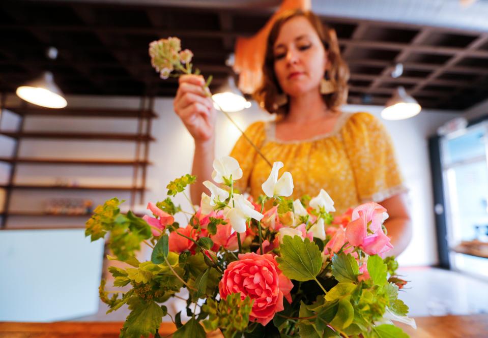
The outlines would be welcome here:
M 109 118 L 156 118 L 152 110 L 137 109 L 94 109 L 94 108 L 37 108 L 37 107 L 5 107 L 22 116 L 70 116 L 70 117 L 109 117 Z

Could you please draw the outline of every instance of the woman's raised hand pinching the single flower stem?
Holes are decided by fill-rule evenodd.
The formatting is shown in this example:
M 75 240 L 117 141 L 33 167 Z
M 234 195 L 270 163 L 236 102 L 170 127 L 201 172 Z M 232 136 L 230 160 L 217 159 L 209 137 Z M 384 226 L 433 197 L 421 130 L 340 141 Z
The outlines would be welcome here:
M 206 143 L 214 137 L 215 109 L 210 90 L 204 88 L 202 75 L 182 75 L 173 107 L 195 143 Z

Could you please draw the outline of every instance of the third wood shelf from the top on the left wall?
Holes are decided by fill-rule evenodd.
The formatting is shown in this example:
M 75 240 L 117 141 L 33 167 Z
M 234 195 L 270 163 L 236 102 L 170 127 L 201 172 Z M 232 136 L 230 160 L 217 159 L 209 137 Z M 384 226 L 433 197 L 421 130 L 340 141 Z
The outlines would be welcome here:
M 41 158 L 8 158 L 0 157 L 0 162 L 29 164 L 61 164 L 61 165 L 97 165 L 97 166 L 148 166 L 148 161 L 131 160 L 93 160 L 93 159 L 41 159 Z

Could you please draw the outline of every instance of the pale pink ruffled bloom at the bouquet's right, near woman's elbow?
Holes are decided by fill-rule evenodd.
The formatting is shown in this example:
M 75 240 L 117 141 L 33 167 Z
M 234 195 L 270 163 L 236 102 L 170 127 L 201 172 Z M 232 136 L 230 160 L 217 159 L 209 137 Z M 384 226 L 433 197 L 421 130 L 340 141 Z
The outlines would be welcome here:
M 390 238 L 381 227 L 386 209 L 369 202 L 353 210 L 352 221 L 346 228 L 346 238 L 368 255 L 383 254 L 393 248 Z

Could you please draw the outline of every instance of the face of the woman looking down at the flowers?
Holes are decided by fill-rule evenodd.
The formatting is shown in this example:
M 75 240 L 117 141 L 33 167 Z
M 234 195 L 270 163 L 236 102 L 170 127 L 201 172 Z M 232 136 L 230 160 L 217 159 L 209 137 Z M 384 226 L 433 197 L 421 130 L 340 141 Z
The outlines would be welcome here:
M 327 53 L 317 32 L 303 16 L 286 21 L 273 46 L 274 72 L 281 89 L 290 96 L 319 90 Z

